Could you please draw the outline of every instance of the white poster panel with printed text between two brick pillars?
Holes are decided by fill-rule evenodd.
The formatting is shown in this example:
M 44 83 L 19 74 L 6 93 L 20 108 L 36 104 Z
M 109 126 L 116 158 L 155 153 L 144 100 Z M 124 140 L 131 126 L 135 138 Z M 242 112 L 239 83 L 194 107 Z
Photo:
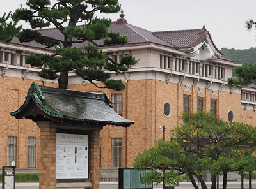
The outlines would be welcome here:
M 88 178 L 88 135 L 56 133 L 56 179 Z

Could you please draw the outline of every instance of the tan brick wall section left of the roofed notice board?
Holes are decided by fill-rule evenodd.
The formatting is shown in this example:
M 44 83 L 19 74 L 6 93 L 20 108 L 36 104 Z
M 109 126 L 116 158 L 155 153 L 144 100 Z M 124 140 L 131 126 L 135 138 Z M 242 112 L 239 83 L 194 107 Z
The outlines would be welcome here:
M 17 137 L 17 168 L 28 168 L 28 137 L 36 138 L 36 152 L 38 150 L 39 129 L 35 122 L 29 119 L 15 119 L 10 115 L 20 108 L 25 101 L 26 94 L 32 82 L 43 85 L 42 81 L 23 80 L 15 77 L 0 76 L 0 166 L 7 164 L 7 136 Z M 58 84 L 47 82 L 45 85 L 57 87 Z M 38 161 L 38 154 L 36 154 Z M 38 167 L 38 165 L 37 165 Z

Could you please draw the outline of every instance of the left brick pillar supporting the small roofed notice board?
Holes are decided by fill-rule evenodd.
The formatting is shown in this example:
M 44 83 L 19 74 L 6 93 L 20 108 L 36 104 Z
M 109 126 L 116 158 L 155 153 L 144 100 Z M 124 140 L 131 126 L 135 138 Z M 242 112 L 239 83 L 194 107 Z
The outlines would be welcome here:
M 56 186 L 56 129 L 40 128 L 39 189 Z

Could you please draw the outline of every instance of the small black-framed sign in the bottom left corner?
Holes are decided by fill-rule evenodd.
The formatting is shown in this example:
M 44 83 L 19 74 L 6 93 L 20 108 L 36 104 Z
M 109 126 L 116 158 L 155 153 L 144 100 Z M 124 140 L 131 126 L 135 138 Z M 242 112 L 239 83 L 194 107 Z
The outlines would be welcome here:
M 15 166 L 3 166 L 2 189 L 15 189 Z

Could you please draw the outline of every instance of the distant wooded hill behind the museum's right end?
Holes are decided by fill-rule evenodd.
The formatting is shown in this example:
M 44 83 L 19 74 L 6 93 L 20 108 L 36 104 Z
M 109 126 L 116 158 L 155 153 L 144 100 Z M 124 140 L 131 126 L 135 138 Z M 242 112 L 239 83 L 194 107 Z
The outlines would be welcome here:
M 235 48 L 221 48 L 221 53 L 226 59 L 231 59 L 237 64 L 254 64 L 256 63 L 256 48 L 247 50 L 235 50 Z

